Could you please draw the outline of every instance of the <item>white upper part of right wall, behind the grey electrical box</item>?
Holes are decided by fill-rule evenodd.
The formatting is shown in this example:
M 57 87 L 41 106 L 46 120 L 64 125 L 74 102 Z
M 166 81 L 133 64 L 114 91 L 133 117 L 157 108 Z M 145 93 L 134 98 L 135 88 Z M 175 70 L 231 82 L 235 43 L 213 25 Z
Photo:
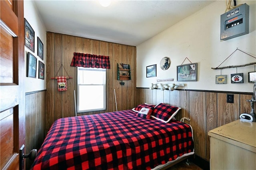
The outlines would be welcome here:
M 220 15 L 225 13 L 226 1 L 216 1 L 196 14 L 189 16 L 164 32 L 137 46 L 136 87 L 149 87 L 157 79 L 174 78 L 172 82 L 185 83 L 185 89 L 252 92 L 253 83 L 248 83 L 248 72 L 255 65 L 217 69 L 237 48 L 256 57 L 256 1 L 237 1 L 249 5 L 249 34 L 220 40 Z M 185 10 L 185 9 L 184 9 Z M 168 22 L 168 21 L 166 21 Z M 169 57 L 169 69 L 160 68 L 160 60 Z M 198 63 L 197 81 L 177 82 L 176 66 L 184 59 Z M 256 62 L 256 59 L 240 51 L 231 55 L 220 67 Z M 190 63 L 186 59 L 183 64 Z M 146 66 L 157 64 L 157 77 L 146 78 Z M 244 73 L 244 83 L 231 83 L 230 74 Z M 216 84 L 216 75 L 228 75 L 227 84 Z

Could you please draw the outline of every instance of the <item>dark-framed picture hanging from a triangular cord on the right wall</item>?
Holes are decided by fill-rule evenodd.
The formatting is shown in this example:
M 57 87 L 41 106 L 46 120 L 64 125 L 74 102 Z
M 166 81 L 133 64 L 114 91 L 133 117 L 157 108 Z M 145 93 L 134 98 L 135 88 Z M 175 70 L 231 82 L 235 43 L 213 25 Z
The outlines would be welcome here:
M 197 63 L 178 65 L 177 81 L 197 81 Z

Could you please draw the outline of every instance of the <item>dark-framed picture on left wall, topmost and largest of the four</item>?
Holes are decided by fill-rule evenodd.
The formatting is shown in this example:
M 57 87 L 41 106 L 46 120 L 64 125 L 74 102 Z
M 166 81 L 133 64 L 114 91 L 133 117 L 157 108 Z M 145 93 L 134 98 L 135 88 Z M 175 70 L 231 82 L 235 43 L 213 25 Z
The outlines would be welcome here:
M 25 23 L 25 46 L 28 47 L 31 51 L 35 51 L 35 32 L 30 26 L 26 18 L 24 18 Z

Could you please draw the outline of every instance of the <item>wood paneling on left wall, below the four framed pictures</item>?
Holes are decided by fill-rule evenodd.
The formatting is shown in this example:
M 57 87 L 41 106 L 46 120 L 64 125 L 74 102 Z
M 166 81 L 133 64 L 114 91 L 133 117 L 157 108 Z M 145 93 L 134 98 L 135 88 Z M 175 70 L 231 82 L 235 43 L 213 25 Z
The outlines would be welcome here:
M 41 147 L 45 138 L 46 91 L 26 94 L 26 154 Z M 33 161 L 26 159 L 29 170 Z

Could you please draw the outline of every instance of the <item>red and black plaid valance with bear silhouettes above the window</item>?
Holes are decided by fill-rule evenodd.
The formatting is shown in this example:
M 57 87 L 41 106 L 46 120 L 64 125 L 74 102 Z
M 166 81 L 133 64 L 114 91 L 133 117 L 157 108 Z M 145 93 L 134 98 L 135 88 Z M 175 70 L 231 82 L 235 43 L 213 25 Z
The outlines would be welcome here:
M 70 66 L 110 69 L 109 56 L 74 53 Z

